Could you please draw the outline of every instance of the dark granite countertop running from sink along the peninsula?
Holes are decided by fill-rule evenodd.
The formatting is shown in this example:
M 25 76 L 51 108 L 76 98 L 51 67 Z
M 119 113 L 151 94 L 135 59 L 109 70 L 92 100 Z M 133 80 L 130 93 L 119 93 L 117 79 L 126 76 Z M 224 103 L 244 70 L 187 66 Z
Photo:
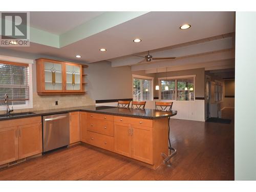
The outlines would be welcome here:
M 91 105 L 91 106 L 79 106 L 75 108 L 30 111 L 30 112 L 33 112 L 34 114 L 20 115 L 20 116 L 10 115 L 9 117 L 1 117 L 0 115 L 0 121 L 9 120 L 9 119 L 26 118 L 26 117 L 62 114 L 62 113 L 69 113 L 69 112 L 76 112 L 76 111 L 135 117 L 135 118 L 143 118 L 143 119 L 157 119 L 157 118 L 172 117 L 177 114 L 177 111 L 167 112 L 167 111 L 160 111 L 160 110 L 153 110 L 153 109 L 139 110 L 139 109 L 132 109 L 132 108 L 117 108 L 115 106 Z

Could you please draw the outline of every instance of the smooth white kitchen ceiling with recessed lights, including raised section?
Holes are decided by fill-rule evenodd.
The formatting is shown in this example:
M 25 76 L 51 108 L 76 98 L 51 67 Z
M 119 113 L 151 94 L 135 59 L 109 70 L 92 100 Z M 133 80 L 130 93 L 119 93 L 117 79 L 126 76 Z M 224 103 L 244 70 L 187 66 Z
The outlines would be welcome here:
M 83 13 L 71 14 L 70 17 L 66 14 L 69 13 L 32 12 L 31 20 L 34 19 L 37 21 L 35 23 L 38 23 L 33 22 L 32 25 L 49 32 L 62 33 L 82 22 Z M 84 16 L 87 14 L 88 12 L 84 12 Z M 100 13 L 90 13 L 88 17 L 84 17 L 84 20 L 93 18 L 97 14 Z M 35 18 L 32 18 L 33 15 L 36 15 Z M 192 27 L 188 30 L 180 30 L 179 27 L 185 23 Z M 96 62 L 231 32 L 234 32 L 234 12 L 149 12 L 62 48 L 31 43 L 30 47 L 7 49 L 78 62 Z M 135 44 L 132 41 L 134 38 L 141 38 L 142 41 Z M 100 52 L 100 48 L 106 48 L 107 51 Z M 77 54 L 82 58 L 75 58 Z

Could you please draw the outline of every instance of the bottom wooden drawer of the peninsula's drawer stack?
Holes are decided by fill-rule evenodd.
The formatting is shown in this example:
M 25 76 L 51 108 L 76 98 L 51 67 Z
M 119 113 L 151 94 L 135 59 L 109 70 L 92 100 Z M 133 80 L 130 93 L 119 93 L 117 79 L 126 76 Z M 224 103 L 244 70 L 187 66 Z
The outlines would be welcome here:
M 86 138 L 87 143 L 91 145 L 104 148 L 105 150 L 114 151 L 114 137 L 87 131 Z

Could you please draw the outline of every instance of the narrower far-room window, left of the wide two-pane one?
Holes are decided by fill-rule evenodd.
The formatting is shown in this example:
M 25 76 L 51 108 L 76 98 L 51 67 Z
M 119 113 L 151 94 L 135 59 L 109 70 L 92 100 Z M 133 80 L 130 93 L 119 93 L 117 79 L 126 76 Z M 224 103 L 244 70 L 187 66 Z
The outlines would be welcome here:
M 153 79 L 151 77 L 133 75 L 133 100 L 148 101 L 153 96 Z

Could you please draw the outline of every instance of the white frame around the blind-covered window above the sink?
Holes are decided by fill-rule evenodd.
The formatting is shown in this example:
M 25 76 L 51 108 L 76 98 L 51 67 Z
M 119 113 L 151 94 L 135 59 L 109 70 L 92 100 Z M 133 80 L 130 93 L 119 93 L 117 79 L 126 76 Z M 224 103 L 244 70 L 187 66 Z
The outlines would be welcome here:
M 26 59 L 26 58 L 19 58 L 19 57 L 10 57 L 6 55 L 0 55 L 0 60 L 9 61 L 9 62 L 20 62 L 20 63 L 27 63 L 29 65 L 29 100 L 26 101 L 26 104 L 16 104 L 10 105 L 13 106 L 13 110 L 20 110 L 20 109 L 31 109 L 33 108 L 33 77 L 32 77 L 32 65 L 34 60 Z M 0 111 L 5 111 L 6 105 L 0 106 Z

